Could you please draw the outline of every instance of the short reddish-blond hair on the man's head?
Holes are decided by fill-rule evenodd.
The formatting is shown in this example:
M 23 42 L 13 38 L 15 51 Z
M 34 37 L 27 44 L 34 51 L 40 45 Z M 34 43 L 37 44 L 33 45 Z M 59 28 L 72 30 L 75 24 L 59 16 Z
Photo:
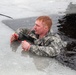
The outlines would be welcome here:
M 39 16 L 36 20 L 42 21 L 44 24 L 48 26 L 48 29 L 50 30 L 52 26 L 52 20 L 49 16 Z

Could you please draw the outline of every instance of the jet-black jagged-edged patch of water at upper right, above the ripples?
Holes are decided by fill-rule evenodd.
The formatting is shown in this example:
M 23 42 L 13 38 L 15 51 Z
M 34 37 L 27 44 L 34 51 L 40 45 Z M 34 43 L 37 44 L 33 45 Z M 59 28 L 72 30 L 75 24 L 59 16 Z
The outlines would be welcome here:
M 64 35 L 76 39 L 76 14 L 66 14 L 59 19 L 58 30 Z

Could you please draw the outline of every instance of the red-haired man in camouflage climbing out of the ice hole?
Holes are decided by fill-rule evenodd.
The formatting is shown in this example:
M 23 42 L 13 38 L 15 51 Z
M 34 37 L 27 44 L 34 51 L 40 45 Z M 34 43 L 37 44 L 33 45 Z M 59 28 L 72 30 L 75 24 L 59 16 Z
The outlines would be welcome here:
M 22 41 L 22 49 L 40 56 L 54 57 L 66 46 L 58 34 L 52 34 L 50 29 L 52 20 L 49 16 L 40 16 L 35 21 L 33 29 L 19 28 L 11 35 L 10 42 L 21 40 L 28 36 L 33 43 L 27 40 Z M 30 40 L 30 39 L 29 39 Z

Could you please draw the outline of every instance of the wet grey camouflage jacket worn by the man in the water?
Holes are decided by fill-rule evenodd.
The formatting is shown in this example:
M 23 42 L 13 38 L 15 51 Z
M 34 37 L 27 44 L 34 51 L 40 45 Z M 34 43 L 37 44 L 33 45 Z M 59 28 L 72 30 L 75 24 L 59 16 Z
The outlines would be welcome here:
M 60 39 L 58 34 L 52 34 L 49 32 L 42 39 L 38 39 L 38 36 L 29 29 L 20 28 L 16 31 L 19 35 L 19 39 L 22 39 L 24 35 L 32 37 L 34 42 L 31 45 L 29 51 L 41 55 L 41 56 L 57 56 L 60 53 L 61 48 L 65 47 L 66 44 Z

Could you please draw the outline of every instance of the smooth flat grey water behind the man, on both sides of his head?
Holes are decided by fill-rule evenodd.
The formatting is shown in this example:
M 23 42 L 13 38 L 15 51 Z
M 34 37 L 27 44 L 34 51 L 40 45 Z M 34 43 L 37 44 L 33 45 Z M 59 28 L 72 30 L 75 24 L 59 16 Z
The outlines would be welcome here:
M 58 19 L 61 17 L 58 14 L 52 14 L 49 15 L 52 20 L 53 20 L 53 31 L 57 32 L 57 23 L 58 23 Z M 18 19 L 10 19 L 10 20 L 3 20 L 2 22 L 9 26 L 11 29 L 13 30 L 17 30 L 20 27 L 25 27 L 25 28 L 32 28 L 35 25 L 35 20 L 36 17 L 28 17 L 28 18 L 18 18 Z

